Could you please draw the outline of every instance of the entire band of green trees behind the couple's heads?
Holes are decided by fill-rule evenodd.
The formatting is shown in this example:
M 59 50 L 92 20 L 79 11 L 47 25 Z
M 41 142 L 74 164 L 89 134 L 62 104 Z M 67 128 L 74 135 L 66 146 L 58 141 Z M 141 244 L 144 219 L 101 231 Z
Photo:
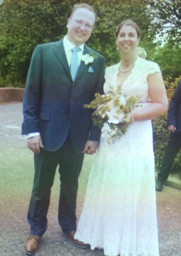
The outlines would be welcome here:
M 25 83 L 33 49 L 37 44 L 57 41 L 67 31 L 66 23 L 73 4 L 82 0 L 4 0 L 0 6 L 0 77 L 12 86 Z M 115 44 L 115 31 L 124 19 L 131 18 L 141 28 L 140 46 L 148 53 L 147 58 L 160 64 L 165 79 L 178 77 L 181 49 L 173 46 L 175 37 L 164 48 L 153 43 L 156 32 L 162 30 L 170 16 L 164 16 L 164 8 L 172 11 L 175 5 L 155 4 L 148 0 L 85 0 L 98 14 L 97 25 L 88 45 L 96 49 L 111 65 L 120 60 Z M 150 5 L 149 5 L 150 4 Z M 154 23 L 154 18 L 160 19 Z M 179 19 L 174 21 L 177 28 Z M 176 25 L 177 24 L 177 25 Z M 172 27 L 172 30 L 178 32 Z M 171 31 L 169 30 L 169 33 Z M 171 35 L 171 34 L 170 34 Z

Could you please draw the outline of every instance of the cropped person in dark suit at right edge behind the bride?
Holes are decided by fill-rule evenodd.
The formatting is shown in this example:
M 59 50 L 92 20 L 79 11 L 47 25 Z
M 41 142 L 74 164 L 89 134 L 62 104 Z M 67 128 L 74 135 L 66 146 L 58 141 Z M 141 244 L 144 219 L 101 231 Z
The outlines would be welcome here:
M 167 124 L 171 134 L 162 161 L 161 171 L 158 173 L 157 191 L 162 191 L 163 184 L 169 177 L 174 159 L 181 148 L 181 79 L 169 105 Z

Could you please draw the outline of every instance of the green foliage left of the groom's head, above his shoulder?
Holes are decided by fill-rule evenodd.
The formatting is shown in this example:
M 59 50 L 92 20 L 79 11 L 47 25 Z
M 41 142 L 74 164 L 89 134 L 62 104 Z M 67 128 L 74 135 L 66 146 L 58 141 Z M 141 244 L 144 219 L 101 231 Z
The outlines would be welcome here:
M 66 34 L 71 1 L 5 0 L 0 7 L 0 58 L 11 83 L 24 82 L 37 44 Z

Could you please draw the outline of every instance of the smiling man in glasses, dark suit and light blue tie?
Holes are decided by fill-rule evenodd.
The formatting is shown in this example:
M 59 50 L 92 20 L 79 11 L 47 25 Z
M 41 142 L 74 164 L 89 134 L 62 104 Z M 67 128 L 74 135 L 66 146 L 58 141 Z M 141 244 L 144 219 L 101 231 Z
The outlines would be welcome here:
M 75 240 L 74 234 L 78 176 L 84 153 L 93 154 L 100 138 L 100 130 L 91 122 L 90 109 L 84 108 L 96 92 L 103 93 L 104 58 L 85 45 L 95 23 L 96 12 L 90 5 L 75 5 L 67 22 L 67 35 L 59 42 L 38 45 L 31 59 L 22 126 L 28 147 L 35 153 L 28 210 L 31 230 L 25 244 L 29 255 L 35 254 L 47 230 L 50 190 L 58 165 L 59 224 L 75 244 L 87 247 Z

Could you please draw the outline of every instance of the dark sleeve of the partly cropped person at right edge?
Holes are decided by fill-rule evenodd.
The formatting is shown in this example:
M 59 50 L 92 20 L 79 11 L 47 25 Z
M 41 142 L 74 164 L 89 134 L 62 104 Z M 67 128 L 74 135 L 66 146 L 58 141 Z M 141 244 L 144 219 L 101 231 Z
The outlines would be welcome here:
M 168 126 L 169 125 L 176 126 L 176 114 L 180 104 L 181 104 L 181 80 L 179 81 L 178 86 L 176 87 L 176 90 L 174 92 L 174 95 L 169 105 L 168 119 L 167 119 Z

